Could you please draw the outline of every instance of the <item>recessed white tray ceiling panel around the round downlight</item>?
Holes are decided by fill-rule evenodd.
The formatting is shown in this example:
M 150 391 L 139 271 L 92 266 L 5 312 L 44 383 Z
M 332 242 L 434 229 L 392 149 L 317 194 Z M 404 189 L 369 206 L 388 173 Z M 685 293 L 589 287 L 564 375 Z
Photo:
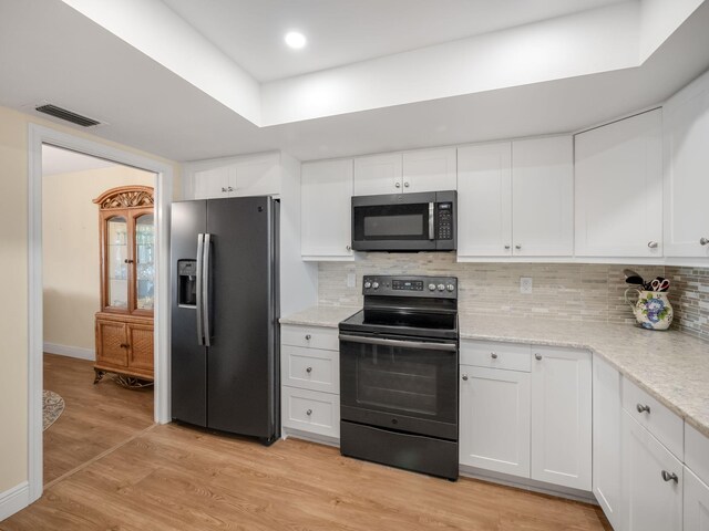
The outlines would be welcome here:
M 627 0 L 162 0 L 259 82 Z M 289 30 L 304 50 L 284 43 Z

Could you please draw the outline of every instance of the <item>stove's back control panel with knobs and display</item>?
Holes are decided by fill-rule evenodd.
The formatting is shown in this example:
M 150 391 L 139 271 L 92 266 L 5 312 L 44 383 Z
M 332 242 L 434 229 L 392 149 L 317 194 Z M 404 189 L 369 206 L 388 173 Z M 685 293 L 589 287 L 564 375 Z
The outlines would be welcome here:
M 362 293 L 364 295 L 458 299 L 458 279 L 455 277 L 366 274 L 362 278 Z

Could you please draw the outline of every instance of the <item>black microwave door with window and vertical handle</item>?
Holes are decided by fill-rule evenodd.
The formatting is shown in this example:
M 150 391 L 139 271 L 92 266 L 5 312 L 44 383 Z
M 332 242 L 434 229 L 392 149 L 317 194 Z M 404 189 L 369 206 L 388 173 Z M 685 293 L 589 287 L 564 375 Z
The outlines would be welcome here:
M 435 194 L 352 198 L 352 249 L 435 250 Z

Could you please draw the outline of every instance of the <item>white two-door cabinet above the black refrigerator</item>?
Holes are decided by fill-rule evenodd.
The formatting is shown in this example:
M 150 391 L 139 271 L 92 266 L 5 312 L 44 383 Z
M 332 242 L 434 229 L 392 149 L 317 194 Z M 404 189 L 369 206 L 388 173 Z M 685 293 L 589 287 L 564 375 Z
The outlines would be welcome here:
M 280 194 L 280 154 L 202 160 L 185 165 L 187 197 L 265 196 Z

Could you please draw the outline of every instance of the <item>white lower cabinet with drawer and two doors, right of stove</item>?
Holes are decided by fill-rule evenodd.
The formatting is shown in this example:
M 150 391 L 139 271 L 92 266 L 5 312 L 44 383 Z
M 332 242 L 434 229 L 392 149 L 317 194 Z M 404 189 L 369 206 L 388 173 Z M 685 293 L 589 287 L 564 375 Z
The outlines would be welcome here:
M 463 341 L 461 363 L 462 465 L 590 490 L 590 353 Z

